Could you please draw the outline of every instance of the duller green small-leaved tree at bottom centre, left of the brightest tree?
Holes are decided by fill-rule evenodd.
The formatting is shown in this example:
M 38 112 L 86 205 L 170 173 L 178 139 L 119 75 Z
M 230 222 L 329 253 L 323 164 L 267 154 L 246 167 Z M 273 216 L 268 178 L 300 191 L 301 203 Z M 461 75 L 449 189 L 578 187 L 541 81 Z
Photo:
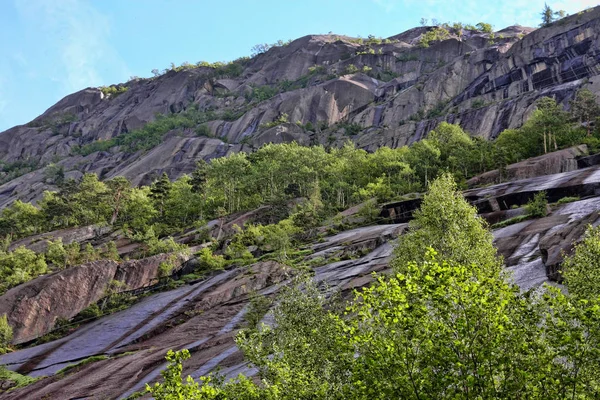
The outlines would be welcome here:
M 282 399 L 343 399 L 354 351 L 311 279 L 296 278 L 273 308 L 274 324 L 245 329 L 236 343 Z

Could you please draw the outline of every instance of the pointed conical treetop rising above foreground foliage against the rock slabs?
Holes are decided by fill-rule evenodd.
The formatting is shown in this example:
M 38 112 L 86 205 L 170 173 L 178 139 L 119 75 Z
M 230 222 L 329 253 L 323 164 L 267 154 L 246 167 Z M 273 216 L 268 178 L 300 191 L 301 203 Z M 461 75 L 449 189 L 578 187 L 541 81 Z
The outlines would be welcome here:
M 408 233 L 398 238 L 392 265 L 399 270 L 411 261 L 421 262 L 424 249 L 432 247 L 443 260 L 496 270 L 501 260 L 492 242 L 477 209 L 465 201 L 452 176 L 446 174 L 431 184 Z

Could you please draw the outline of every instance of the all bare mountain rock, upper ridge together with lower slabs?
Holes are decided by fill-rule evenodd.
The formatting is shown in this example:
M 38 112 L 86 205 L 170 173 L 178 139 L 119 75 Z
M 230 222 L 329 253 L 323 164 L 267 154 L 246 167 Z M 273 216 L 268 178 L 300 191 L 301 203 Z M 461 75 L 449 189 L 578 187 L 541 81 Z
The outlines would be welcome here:
M 31 123 L 0 133 L 0 209 L 55 188 L 50 172 L 57 169 L 66 178 L 93 172 L 138 185 L 269 142 L 337 146 L 351 139 L 367 150 L 399 147 L 442 121 L 490 139 L 521 126 L 540 96 L 568 106 L 581 87 L 600 92 L 600 7 L 538 30 L 447 27 L 447 37 L 424 45 L 437 29 L 385 40 L 307 36 L 252 59 L 176 67 L 67 96 Z M 560 283 L 563 254 L 588 224 L 600 223 L 600 156 L 587 154 L 579 145 L 468 181 L 464 196 L 482 218 L 500 223 L 495 246 L 522 290 Z M 524 206 L 541 192 L 551 203 L 548 215 L 529 218 Z M 420 204 L 418 195 L 405 196 L 375 208 L 370 220 L 355 205 L 315 228 L 320 235 L 297 249 L 296 264 L 349 295 L 372 282 L 373 272 L 389 270 L 394 241 Z M 270 207 L 190 225 L 173 237 L 197 245 L 186 253 L 140 255 L 139 240 L 105 225 L 44 231 L 7 244 L 43 253 L 57 240 L 92 249 L 111 242 L 123 261 L 81 261 L 0 296 L 0 316 L 7 316 L 15 346 L 0 355 L 0 365 L 41 378 L 13 390 L 14 382 L 0 379 L 0 399 L 127 398 L 160 379 L 169 349 L 190 350 L 184 373 L 195 378 L 217 368 L 226 377 L 255 375 L 235 334 L 248 323 L 253 296 L 275 298 L 298 270 L 257 253 L 250 265 L 190 272 L 198 272 L 200 249 L 224 252 L 236 225 L 260 221 Z M 519 217 L 526 218 L 510 223 Z M 139 298 L 116 312 L 82 317 L 128 295 Z

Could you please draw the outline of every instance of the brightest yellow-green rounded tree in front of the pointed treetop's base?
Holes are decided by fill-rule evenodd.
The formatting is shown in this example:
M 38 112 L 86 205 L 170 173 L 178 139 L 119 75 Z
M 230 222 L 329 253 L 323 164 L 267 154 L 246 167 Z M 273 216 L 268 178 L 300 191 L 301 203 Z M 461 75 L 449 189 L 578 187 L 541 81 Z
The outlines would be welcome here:
M 521 398 L 539 359 L 525 350 L 543 351 L 529 332 L 539 317 L 500 269 L 436 257 L 379 277 L 349 306 L 352 398 Z

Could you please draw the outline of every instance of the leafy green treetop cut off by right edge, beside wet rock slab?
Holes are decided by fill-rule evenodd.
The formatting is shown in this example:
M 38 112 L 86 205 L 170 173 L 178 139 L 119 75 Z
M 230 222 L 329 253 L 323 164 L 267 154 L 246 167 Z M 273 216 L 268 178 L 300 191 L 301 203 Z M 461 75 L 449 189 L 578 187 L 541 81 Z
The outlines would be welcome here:
M 600 228 L 588 226 L 573 254 L 565 258 L 562 274 L 573 296 L 580 299 L 600 296 Z

